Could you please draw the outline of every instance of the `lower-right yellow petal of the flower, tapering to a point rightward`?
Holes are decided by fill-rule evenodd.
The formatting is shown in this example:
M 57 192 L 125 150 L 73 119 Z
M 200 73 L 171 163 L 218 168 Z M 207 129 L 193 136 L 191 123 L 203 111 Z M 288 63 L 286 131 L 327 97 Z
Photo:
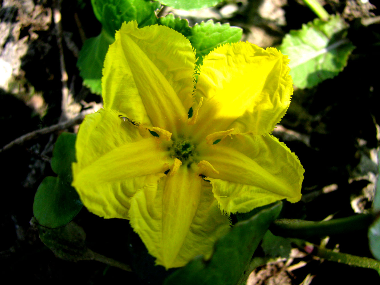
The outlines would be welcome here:
M 304 169 L 298 158 L 272 135 L 234 135 L 199 154 L 219 172 L 201 169 L 226 213 L 248 212 L 280 199 L 301 199 Z

